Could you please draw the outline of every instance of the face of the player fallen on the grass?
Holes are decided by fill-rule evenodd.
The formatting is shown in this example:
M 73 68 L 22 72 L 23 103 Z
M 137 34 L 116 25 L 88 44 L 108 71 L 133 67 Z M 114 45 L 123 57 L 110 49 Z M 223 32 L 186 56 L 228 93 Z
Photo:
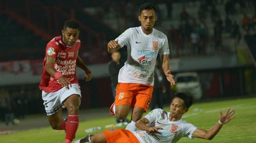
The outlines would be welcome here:
M 178 98 L 178 97 L 173 98 L 170 106 L 170 116 L 172 116 L 173 118 L 180 119 L 182 117 L 182 114 L 188 111 L 187 108 L 183 107 L 183 104 L 184 104 L 184 101 L 181 98 Z

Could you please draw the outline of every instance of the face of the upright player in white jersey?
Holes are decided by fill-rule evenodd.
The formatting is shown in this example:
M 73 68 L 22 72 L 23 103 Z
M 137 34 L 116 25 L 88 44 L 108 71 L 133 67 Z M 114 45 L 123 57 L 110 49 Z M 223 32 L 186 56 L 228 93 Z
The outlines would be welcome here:
M 138 19 L 144 30 L 151 31 L 156 21 L 156 13 L 154 9 L 144 9 L 140 16 L 138 16 Z

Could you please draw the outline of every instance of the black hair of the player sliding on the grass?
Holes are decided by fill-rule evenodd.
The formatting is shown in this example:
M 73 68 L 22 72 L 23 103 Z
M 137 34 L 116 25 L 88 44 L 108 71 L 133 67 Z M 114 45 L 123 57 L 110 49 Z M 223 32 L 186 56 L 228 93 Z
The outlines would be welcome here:
M 184 101 L 184 108 L 187 108 L 189 109 L 189 107 L 193 104 L 194 102 L 194 96 L 187 93 L 187 92 L 176 92 L 174 94 L 174 97 L 178 97 L 178 98 L 181 98 L 183 101 Z

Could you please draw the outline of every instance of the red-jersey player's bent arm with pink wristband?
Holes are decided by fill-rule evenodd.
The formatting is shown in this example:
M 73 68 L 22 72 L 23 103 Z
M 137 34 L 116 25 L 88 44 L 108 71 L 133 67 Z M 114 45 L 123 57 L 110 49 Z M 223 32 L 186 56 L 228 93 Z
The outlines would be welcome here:
M 51 76 L 55 77 L 59 80 L 60 85 L 63 87 L 66 86 L 67 89 L 69 89 L 69 80 L 62 76 L 62 73 L 58 73 L 56 69 L 53 67 L 53 64 L 55 63 L 56 58 L 51 56 L 46 56 L 46 62 L 45 62 L 45 70 L 47 73 L 49 73 Z

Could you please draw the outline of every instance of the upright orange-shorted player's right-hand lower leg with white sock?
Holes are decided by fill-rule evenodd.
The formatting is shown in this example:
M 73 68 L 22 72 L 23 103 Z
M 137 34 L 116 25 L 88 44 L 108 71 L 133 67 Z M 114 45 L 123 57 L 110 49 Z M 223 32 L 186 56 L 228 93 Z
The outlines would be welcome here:
M 132 112 L 131 122 L 126 126 L 126 130 L 135 131 L 137 128 L 135 123 L 142 118 L 143 113 L 145 110 L 142 107 L 134 106 Z

